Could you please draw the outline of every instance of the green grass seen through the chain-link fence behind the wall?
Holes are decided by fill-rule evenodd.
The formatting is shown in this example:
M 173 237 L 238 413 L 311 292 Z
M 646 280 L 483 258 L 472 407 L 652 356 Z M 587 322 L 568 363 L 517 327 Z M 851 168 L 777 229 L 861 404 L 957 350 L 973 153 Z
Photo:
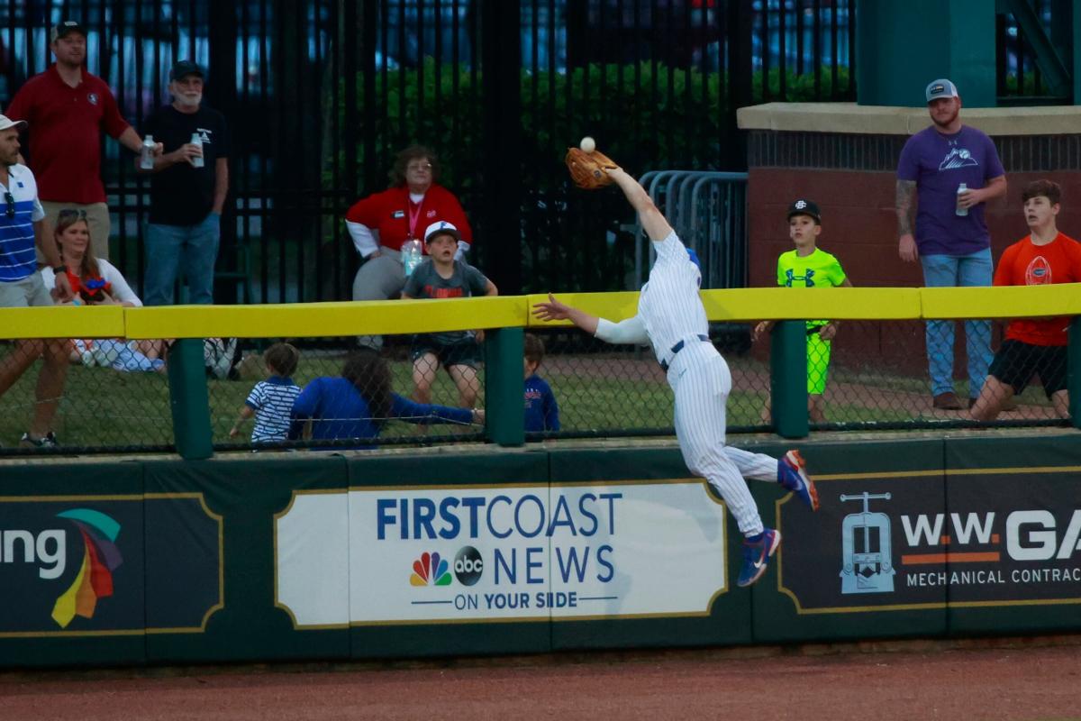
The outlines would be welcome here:
M 11 345 L 0 346 L 0 356 L 11 349 Z M 395 389 L 411 396 L 412 366 L 401 350 L 395 353 L 397 360 L 391 361 Z M 342 349 L 305 349 L 294 379 L 303 386 L 317 376 L 337 375 L 345 357 Z M 766 430 L 760 414 L 769 392 L 768 364 L 750 356 L 730 357 L 728 361 L 734 387 L 729 398 L 728 425 Z M 0 446 L 16 445 L 27 429 L 38 368 L 31 366 L 0 397 Z M 228 432 L 248 392 L 263 377 L 258 351 L 246 351 L 240 368 L 242 379 L 208 379 L 215 443 L 246 442 L 250 438 L 251 422 L 241 438 L 230 440 Z M 550 353 L 540 375 L 556 392 L 565 432 L 619 436 L 672 426 L 671 390 L 649 353 Z M 480 378 L 478 405 L 483 403 L 483 371 Z M 963 384 L 959 393 L 963 397 Z M 942 419 L 940 414 L 919 405 L 925 399 L 926 385 L 922 378 L 876 369 L 836 368 L 827 388 L 826 411 L 831 423 L 911 423 L 917 427 Z M 55 430 L 62 444 L 68 448 L 170 445 L 173 436 L 169 400 L 169 383 L 163 374 L 121 373 L 75 364 L 69 370 Z M 1046 406 L 1039 388 L 1027 390 L 1023 401 L 1037 410 Z M 440 374 L 433 387 L 432 402 L 445 405 L 458 402 L 457 390 L 445 374 Z M 478 430 L 439 426 L 425 431 L 412 424 L 391 422 L 383 436 L 424 442 L 426 433 L 445 436 Z

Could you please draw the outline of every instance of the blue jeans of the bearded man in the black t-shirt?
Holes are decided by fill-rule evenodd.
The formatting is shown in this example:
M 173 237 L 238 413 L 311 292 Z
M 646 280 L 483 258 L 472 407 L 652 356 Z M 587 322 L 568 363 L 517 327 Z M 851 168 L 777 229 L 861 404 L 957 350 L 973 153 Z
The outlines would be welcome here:
M 182 269 L 189 302 L 214 303 L 214 261 L 221 237 L 222 216 L 217 213 L 211 213 L 196 225 L 147 224 L 143 303 L 172 305 L 176 273 Z

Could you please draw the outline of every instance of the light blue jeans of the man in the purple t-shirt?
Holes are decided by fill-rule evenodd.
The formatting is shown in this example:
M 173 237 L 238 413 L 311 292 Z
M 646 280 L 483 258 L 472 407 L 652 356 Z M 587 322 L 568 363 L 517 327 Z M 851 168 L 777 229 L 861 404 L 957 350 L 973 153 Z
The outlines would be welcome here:
M 923 284 L 927 288 L 967 288 L 990 285 L 995 265 L 991 249 L 972 255 L 922 255 Z M 984 387 L 991 364 L 991 322 L 964 322 L 965 353 L 969 357 L 969 396 L 975 398 Z M 927 365 L 931 392 L 953 391 L 953 321 L 927 321 Z

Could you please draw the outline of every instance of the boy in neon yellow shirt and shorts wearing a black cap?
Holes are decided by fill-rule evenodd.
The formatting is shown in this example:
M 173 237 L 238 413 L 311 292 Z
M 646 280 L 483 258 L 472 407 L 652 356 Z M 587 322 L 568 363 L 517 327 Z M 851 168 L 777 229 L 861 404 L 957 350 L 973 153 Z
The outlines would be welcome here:
M 822 214 L 810 200 L 797 200 L 788 206 L 788 237 L 796 250 L 777 258 L 777 285 L 783 288 L 852 288 L 840 262 L 817 246 L 822 233 Z M 755 339 L 768 333 L 773 321 L 764 320 L 755 328 Z M 812 423 L 826 423 L 822 395 L 826 390 L 829 358 L 838 322 L 808 321 L 808 416 Z M 770 399 L 765 400 L 762 419 L 770 420 Z

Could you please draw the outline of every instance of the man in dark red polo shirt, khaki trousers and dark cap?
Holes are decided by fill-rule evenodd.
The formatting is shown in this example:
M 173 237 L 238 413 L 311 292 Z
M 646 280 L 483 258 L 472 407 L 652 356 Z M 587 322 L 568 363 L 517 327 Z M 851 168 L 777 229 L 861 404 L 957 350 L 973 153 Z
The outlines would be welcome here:
M 143 138 L 120 116 L 112 91 L 86 72 L 86 31 L 75 21 L 53 28 L 56 63 L 15 93 L 6 115 L 30 123 L 29 165 L 49 227 L 65 208 L 86 212 L 94 255 L 109 257 L 109 208 L 102 184 L 102 144 L 98 133 L 133 152 Z M 155 148 L 161 155 L 161 144 Z M 38 262 L 41 262 L 39 256 Z

